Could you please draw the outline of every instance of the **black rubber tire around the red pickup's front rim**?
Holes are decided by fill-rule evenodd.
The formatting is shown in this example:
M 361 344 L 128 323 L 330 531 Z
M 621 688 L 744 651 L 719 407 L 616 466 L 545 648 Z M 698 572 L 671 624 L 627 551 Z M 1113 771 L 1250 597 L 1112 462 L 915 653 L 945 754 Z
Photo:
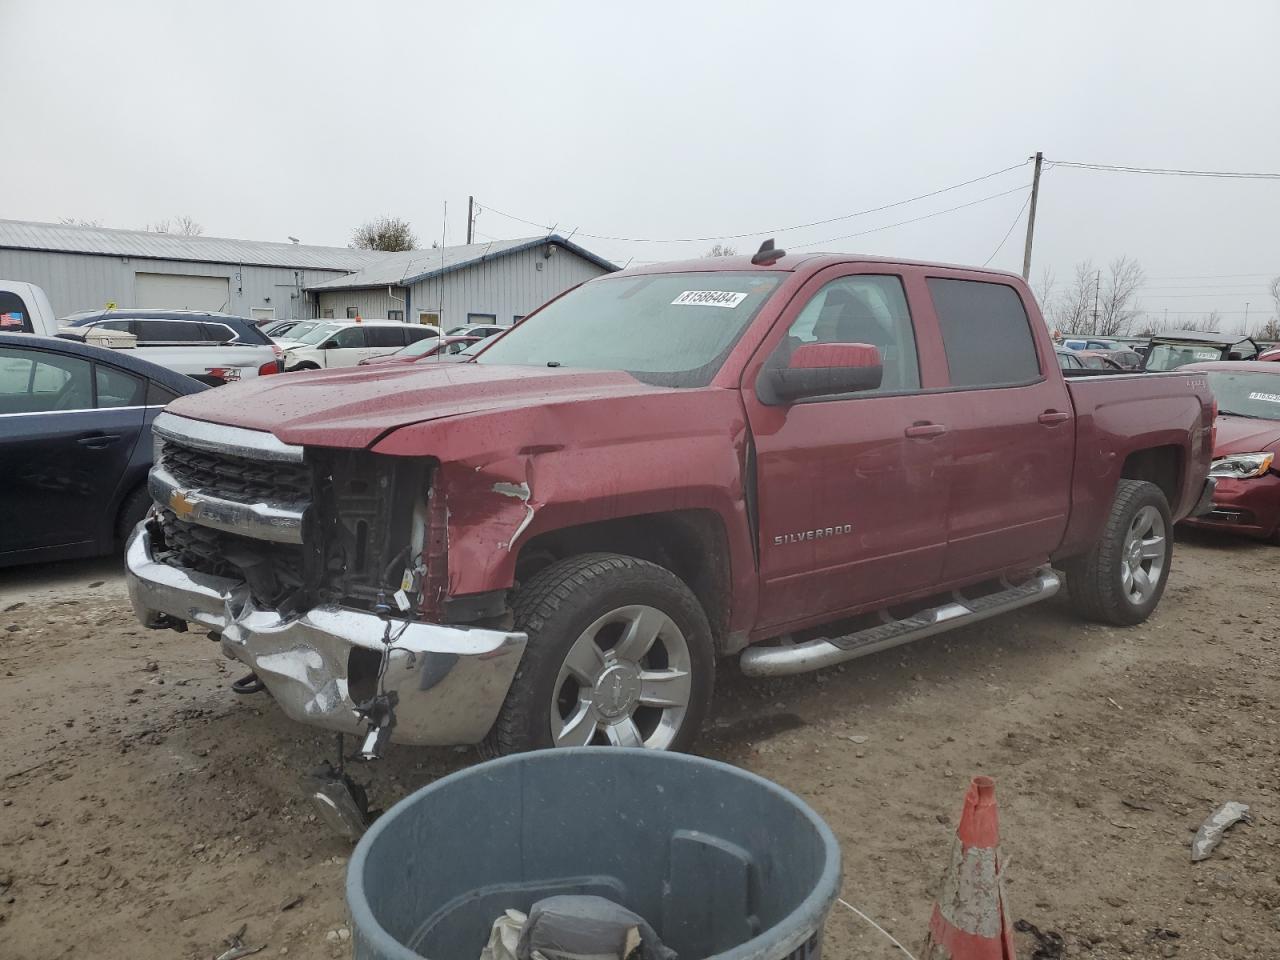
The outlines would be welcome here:
M 516 628 L 529 635 L 529 645 L 489 736 L 489 751 L 511 754 L 556 745 L 553 698 L 570 649 L 596 620 L 628 605 L 658 609 L 684 636 L 690 695 L 667 749 L 690 748 L 707 718 L 716 682 L 716 650 L 705 612 L 664 567 L 616 553 L 588 553 L 550 564 L 516 591 Z M 645 709 L 653 708 L 639 708 Z

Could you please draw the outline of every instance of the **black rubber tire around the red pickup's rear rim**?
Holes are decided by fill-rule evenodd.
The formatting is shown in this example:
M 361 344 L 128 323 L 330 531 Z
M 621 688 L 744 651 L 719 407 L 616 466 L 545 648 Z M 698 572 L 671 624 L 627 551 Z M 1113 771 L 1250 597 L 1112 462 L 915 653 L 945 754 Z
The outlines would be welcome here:
M 1124 584 L 1128 566 L 1125 541 L 1135 517 L 1148 507 L 1158 512 L 1164 522 L 1164 554 L 1155 589 L 1139 602 L 1129 594 Z M 1142 623 L 1156 609 L 1165 593 L 1172 559 L 1174 524 L 1165 494 L 1158 486 L 1144 480 L 1121 480 L 1098 543 L 1087 554 L 1075 557 L 1065 564 L 1071 604 L 1080 616 L 1100 623 L 1115 626 Z

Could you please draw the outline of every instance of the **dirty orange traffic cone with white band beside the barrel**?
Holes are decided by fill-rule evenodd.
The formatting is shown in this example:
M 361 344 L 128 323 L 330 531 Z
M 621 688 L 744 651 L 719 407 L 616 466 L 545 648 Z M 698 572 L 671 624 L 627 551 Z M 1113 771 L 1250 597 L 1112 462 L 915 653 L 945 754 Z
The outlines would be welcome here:
M 1016 960 L 1005 915 L 996 781 L 974 777 L 933 905 L 924 960 Z

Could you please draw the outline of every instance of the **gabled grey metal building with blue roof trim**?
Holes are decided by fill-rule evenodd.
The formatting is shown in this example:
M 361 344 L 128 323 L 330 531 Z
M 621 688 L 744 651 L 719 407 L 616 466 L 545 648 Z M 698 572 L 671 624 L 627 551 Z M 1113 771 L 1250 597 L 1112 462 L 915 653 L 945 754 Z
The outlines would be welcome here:
M 315 316 L 509 325 L 593 276 L 608 260 L 556 234 L 384 253 L 348 276 L 307 287 Z

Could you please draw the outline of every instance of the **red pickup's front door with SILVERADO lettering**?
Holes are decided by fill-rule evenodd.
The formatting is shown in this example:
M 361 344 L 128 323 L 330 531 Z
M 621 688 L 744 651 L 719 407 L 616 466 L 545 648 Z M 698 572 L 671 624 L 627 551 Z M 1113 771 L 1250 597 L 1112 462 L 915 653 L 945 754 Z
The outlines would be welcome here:
M 755 443 L 758 626 L 785 630 L 919 593 L 938 582 L 946 549 L 951 439 L 936 334 L 908 289 L 922 282 L 842 265 L 814 275 L 744 374 Z M 771 403 L 762 370 L 805 343 L 869 343 L 876 389 Z

